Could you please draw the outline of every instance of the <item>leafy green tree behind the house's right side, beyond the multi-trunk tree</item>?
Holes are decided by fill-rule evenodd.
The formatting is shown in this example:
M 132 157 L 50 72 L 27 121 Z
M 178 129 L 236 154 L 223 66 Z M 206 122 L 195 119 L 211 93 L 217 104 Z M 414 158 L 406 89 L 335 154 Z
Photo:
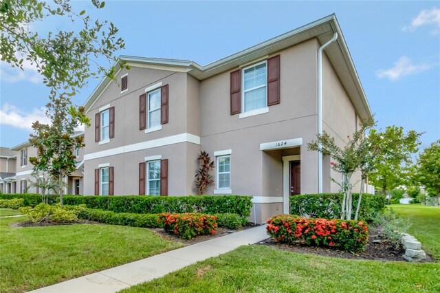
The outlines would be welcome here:
M 419 151 L 419 138 L 422 134 L 413 130 L 405 134 L 403 127 L 394 125 L 386 127 L 382 132 L 371 129 L 369 142 L 377 155 L 373 162 L 376 172 L 370 175 L 369 182 L 381 188 L 384 195 L 406 184 L 411 155 Z

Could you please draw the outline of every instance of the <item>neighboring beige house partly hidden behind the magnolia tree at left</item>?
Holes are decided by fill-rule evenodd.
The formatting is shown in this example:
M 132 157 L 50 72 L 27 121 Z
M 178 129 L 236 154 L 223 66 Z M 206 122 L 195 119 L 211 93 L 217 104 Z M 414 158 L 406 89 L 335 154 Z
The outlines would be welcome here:
M 76 131 L 74 136 L 84 135 L 83 131 Z M 42 193 L 39 187 L 33 186 L 36 182 L 36 177 L 33 175 L 34 165 L 30 164 L 29 158 L 37 156 L 37 149 L 31 146 L 30 142 L 23 142 L 10 149 L 14 151 L 17 157 L 15 180 L 17 181 L 17 193 Z M 74 151 L 76 156 L 76 171 L 66 178 L 64 194 L 83 195 L 83 149 L 76 149 Z M 39 174 L 42 177 L 43 174 Z

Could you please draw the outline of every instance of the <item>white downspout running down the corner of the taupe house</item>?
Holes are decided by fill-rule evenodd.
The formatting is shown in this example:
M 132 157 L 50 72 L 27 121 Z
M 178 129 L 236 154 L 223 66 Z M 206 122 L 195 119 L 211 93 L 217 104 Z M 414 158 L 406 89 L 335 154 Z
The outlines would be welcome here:
M 336 39 L 338 39 L 337 32 L 318 50 L 318 135 L 322 135 L 322 51 Z M 318 149 L 321 149 L 320 142 L 318 142 Z M 322 153 L 320 151 L 318 151 L 318 193 L 322 193 Z

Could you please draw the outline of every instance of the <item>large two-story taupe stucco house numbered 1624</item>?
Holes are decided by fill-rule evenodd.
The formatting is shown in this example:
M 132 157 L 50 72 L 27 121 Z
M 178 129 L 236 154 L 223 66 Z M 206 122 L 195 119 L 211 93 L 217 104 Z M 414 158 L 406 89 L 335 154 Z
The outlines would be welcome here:
M 118 83 L 102 80 L 85 102 L 87 195 L 195 194 L 197 157 L 207 151 L 215 164 L 207 194 L 253 195 L 252 220 L 262 222 L 288 213 L 289 195 L 338 191 L 330 178 L 341 175 L 307 143 L 324 130 L 343 144 L 372 115 L 334 14 L 204 66 L 120 60 L 131 69 L 118 71 Z

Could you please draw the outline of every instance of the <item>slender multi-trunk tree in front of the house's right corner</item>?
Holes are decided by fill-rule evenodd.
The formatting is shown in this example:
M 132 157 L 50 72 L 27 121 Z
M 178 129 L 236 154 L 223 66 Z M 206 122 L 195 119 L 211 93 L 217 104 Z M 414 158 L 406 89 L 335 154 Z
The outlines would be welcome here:
M 373 152 L 368 138 L 365 137 L 365 131 L 370 129 L 375 124 L 373 119 L 365 120 L 360 123 L 360 129 L 353 133 L 352 138 L 348 138 L 347 144 L 342 148 L 338 146 L 335 139 L 327 132 L 322 135 L 317 135 L 317 141 L 307 144 L 309 151 L 320 151 L 325 155 L 330 155 L 332 160 L 336 162 L 331 163 L 331 168 L 334 171 L 342 173 L 342 210 L 341 219 L 351 219 L 353 213 L 353 196 L 351 176 L 355 171 L 361 170 L 362 177 L 373 170 L 372 158 Z M 321 147 L 318 146 L 320 142 Z M 362 184 L 363 188 L 363 184 Z M 358 219 L 360 202 L 362 194 L 358 200 L 358 207 L 355 212 L 355 219 Z

